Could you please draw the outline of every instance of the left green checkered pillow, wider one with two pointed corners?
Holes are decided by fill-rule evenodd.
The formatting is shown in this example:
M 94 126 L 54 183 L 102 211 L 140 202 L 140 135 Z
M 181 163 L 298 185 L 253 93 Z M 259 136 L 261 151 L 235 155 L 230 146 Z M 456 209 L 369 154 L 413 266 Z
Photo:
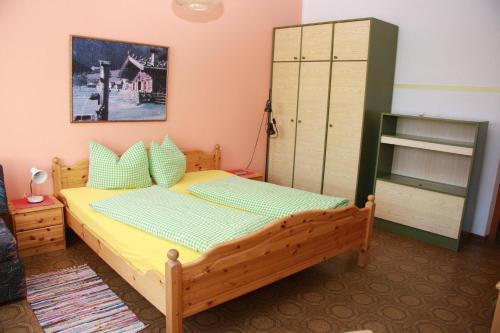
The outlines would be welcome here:
M 152 185 L 144 142 L 137 142 L 121 157 L 93 141 L 89 144 L 89 152 L 88 187 L 109 190 Z

